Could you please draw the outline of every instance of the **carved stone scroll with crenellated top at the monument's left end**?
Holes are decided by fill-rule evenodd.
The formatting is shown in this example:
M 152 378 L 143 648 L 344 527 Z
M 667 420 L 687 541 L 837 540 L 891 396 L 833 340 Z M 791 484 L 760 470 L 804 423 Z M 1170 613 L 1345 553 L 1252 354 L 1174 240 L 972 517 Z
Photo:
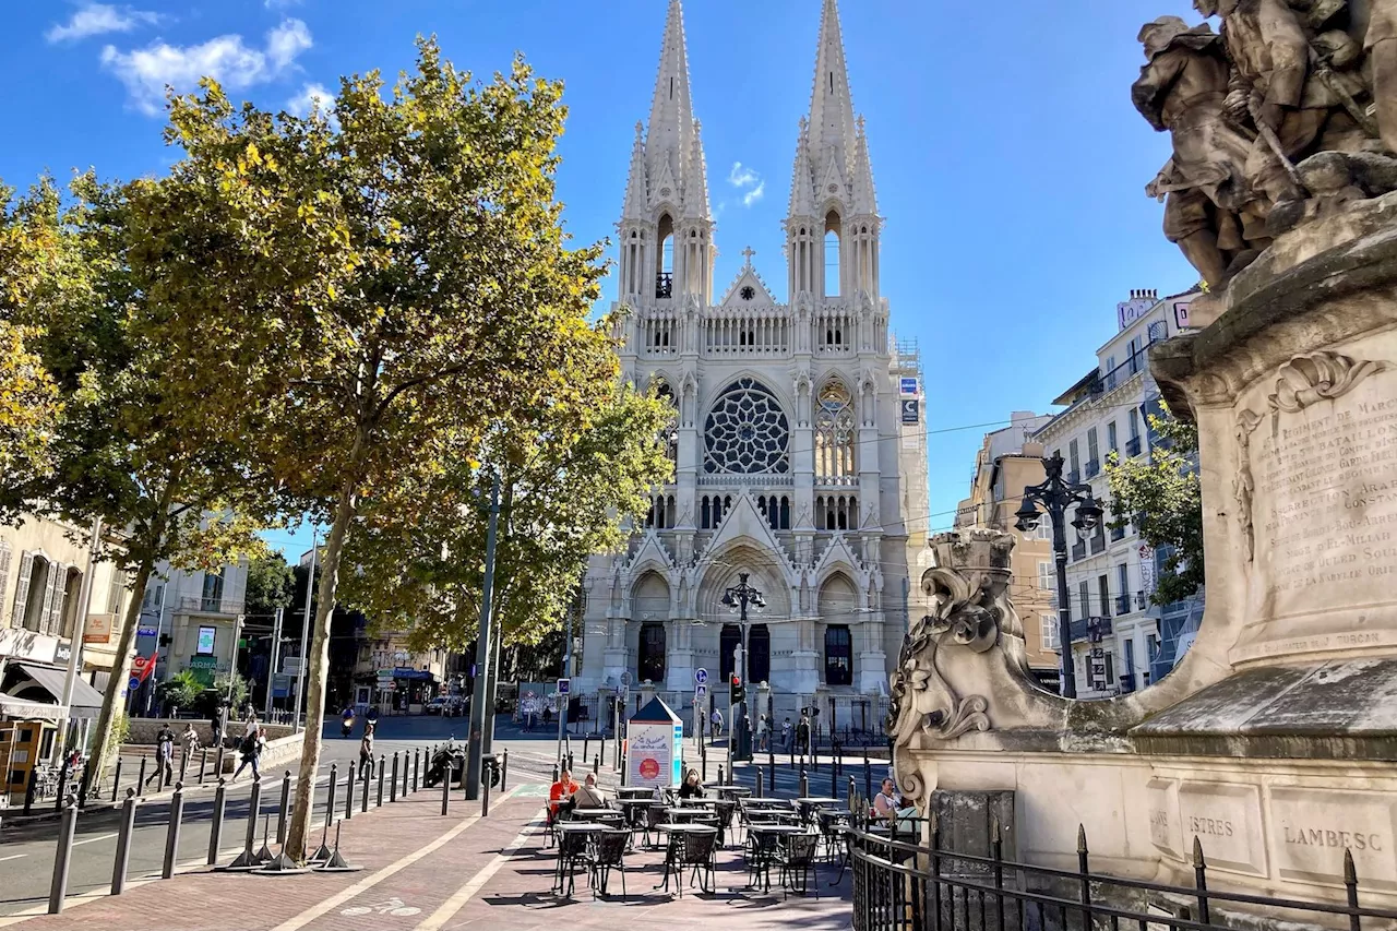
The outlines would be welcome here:
M 886 728 L 900 746 L 919 735 L 953 739 L 988 731 L 989 702 L 957 693 L 946 670 L 958 653 L 988 653 L 1004 635 L 1023 636 L 1009 602 L 1010 534 L 958 530 L 933 537 L 930 547 L 935 568 L 922 584 L 932 612 L 912 623 L 893 672 Z

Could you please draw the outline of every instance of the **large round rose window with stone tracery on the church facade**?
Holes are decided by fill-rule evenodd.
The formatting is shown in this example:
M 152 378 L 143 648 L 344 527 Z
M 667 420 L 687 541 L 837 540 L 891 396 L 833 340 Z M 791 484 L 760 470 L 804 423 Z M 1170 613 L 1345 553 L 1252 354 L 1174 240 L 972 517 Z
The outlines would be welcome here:
M 704 422 L 705 472 L 785 472 L 789 424 L 775 396 L 753 379 L 729 384 Z

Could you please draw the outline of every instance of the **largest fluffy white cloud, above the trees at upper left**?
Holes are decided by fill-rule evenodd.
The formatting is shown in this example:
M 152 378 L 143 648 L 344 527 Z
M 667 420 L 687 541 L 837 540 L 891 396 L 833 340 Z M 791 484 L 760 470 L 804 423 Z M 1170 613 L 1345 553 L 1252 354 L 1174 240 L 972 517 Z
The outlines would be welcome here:
M 265 49 L 254 49 L 240 35 L 221 35 L 201 45 L 154 42 L 144 49 L 102 49 L 102 64 L 126 85 L 131 102 L 155 116 L 165 105 L 165 88 L 189 92 L 201 77 L 211 77 L 228 91 L 281 77 L 296 56 L 312 48 L 310 29 L 300 20 L 284 20 L 267 34 Z

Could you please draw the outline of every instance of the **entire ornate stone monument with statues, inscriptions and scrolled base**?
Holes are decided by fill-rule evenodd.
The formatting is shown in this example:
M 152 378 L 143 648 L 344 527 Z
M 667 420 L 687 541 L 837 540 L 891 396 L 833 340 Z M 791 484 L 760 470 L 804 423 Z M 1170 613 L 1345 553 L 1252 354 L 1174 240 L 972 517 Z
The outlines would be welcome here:
M 1199 426 L 1206 614 L 1173 672 L 1038 686 L 1014 537 L 930 540 L 887 721 L 908 798 L 1011 793 L 1002 840 L 1073 868 L 1397 906 L 1397 0 L 1194 0 L 1139 41 L 1172 157 L 1147 193 L 1207 294 L 1153 347 Z M 1065 644 L 1067 661 L 1071 646 Z M 995 802 L 997 804 L 997 802 Z M 979 851 L 968 851 L 979 853 Z M 1351 861 L 1345 865 L 1345 858 Z

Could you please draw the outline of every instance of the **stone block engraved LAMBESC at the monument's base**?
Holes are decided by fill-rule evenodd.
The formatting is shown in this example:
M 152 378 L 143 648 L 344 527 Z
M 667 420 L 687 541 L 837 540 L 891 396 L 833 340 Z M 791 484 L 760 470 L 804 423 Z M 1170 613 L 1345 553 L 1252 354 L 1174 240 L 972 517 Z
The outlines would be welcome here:
M 1397 889 L 1397 802 L 1373 793 L 1271 790 L 1271 850 L 1282 879 L 1344 881 L 1344 850 L 1363 888 Z

